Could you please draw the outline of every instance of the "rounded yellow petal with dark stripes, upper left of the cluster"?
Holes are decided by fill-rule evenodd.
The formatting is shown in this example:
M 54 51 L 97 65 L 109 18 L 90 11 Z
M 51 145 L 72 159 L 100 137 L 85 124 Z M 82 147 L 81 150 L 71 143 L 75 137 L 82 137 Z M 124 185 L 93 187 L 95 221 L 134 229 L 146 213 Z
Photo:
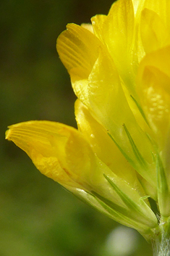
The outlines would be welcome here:
M 98 57 L 100 41 L 89 30 L 69 24 L 56 41 L 61 62 L 72 80 L 87 79 Z

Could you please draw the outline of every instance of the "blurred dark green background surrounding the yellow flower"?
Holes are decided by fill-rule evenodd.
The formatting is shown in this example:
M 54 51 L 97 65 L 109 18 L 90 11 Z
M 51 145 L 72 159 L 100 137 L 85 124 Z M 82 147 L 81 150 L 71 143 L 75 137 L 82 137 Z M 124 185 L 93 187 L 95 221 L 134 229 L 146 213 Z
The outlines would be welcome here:
M 76 127 L 76 98 L 56 53 L 56 38 L 68 22 L 81 24 L 95 14 L 107 14 L 111 3 L 0 2 L 0 256 L 152 255 L 136 231 L 84 205 L 4 140 L 7 125 L 26 120 Z

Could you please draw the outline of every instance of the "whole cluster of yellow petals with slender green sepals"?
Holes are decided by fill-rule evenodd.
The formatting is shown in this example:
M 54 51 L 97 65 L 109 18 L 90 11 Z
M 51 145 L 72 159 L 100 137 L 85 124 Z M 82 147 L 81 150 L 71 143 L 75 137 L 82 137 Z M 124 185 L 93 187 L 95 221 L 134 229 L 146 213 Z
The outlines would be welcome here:
M 148 238 L 170 216 L 170 1 L 119 0 L 56 44 L 77 96 L 78 130 L 30 121 L 7 139 L 46 176 Z

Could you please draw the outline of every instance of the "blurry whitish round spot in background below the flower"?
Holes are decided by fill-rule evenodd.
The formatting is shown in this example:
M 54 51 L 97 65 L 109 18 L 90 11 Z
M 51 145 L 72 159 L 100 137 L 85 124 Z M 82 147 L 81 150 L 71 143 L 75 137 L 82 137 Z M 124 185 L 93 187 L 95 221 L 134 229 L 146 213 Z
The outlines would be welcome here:
M 109 255 L 128 256 L 137 249 L 138 233 L 132 228 L 119 226 L 106 239 L 106 251 Z

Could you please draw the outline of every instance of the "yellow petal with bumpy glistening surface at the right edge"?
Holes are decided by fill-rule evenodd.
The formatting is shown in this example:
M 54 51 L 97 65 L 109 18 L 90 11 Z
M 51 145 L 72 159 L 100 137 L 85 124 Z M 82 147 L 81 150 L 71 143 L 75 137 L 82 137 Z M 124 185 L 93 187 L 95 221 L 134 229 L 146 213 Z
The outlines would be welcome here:
M 158 136 L 158 141 L 166 136 L 169 128 L 169 84 L 170 78 L 156 67 L 145 67 L 140 81 L 140 99 L 150 126 Z

